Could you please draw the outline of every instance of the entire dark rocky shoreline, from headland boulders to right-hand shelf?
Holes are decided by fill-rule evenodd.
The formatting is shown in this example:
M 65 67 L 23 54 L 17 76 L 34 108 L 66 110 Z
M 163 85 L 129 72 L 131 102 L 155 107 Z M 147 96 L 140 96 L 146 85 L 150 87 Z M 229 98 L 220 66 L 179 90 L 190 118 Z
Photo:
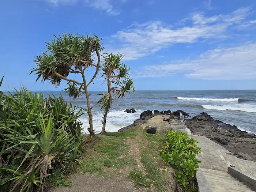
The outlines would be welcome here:
M 165 121 L 172 119 L 180 119 L 180 112 L 185 117 L 189 116 L 182 110 L 171 112 L 171 110 L 161 111 L 154 110 L 154 114 L 150 110 L 144 111 L 140 114 L 140 118 L 135 120 L 133 124 L 121 128 L 118 131 L 123 132 L 127 129 L 133 128 L 136 125 L 142 125 L 150 118 L 157 115 L 168 115 Z M 205 136 L 208 139 L 225 147 L 230 153 L 236 155 L 238 158 L 250 161 L 256 161 L 256 137 L 255 134 L 241 131 L 236 125 L 229 125 L 222 121 L 215 120 L 207 113 L 199 114 L 185 121 L 188 129 L 193 135 Z

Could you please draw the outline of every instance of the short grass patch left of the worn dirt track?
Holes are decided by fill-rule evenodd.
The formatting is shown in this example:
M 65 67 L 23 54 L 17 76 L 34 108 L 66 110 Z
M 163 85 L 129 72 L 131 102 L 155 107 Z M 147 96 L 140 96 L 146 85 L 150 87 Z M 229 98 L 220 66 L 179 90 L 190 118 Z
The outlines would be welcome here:
M 112 136 L 112 133 L 106 133 L 106 135 Z M 134 135 L 132 131 L 129 131 L 115 133 L 113 137 L 99 137 L 97 144 L 86 151 L 83 163 L 78 169 L 79 172 L 110 175 L 109 172 L 103 171 L 104 166 L 114 170 L 125 166 L 135 166 L 135 158 L 128 154 L 130 146 L 125 143 L 126 137 Z

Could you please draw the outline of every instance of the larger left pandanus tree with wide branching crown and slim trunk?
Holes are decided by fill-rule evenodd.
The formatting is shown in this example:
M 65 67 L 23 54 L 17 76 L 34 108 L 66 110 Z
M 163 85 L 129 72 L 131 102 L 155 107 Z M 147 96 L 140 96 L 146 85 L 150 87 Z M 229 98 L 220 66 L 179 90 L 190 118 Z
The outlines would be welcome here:
M 46 42 L 46 51 L 35 57 L 35 68 L 30 74 L 35 72 L 37 80 L 48 81 L 51 85 L 58 87 L 62 81 L 68 83 L 64 90 L 69 97 L 75 100 L 79 95 L 86 95 L 87 109 L 89 116 L 88 131 L 90 137 L 94 138 L 93 115 L 90 106 L 90 94 L 87 87 L 93 83 L 100 68 L 100 52 L 103 49 L 101 39 L 96 35 L 83 36 L 78 34 L 63 33 L 53 35 L 54 39 Z M 93 57 L 97 57 L 97 62 Z M 86 72 L 93 71 L 93 75 L 86 78 Z M 71 74 L 82 76 L 81 82 L 68 78 Z M 36 81 L 37 81 L 36 80 Z

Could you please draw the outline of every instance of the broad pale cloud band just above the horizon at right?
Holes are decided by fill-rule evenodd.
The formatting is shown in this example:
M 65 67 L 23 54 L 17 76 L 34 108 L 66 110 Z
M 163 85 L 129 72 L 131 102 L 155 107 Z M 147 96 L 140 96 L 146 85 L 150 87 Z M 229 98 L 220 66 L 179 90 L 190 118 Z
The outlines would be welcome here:
M 194 60 L 145 66 L 135 77 L 162 77 L 184 74 L 189 78 L 234 80 L 256 79 L 256 44 L 208 50 Z

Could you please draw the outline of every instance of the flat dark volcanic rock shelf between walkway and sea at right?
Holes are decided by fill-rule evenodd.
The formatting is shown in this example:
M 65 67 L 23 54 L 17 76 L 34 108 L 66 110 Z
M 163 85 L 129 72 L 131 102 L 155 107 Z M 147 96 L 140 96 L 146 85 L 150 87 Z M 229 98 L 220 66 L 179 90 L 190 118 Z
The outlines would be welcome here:
M 241 159 L 256 161 L 256 138 L 252 133 L 241 131 L 236 125 L 215 120 L 202 113 L 187 120 L 185 124 L 194 135 L 202 135 L 222 145 Z

